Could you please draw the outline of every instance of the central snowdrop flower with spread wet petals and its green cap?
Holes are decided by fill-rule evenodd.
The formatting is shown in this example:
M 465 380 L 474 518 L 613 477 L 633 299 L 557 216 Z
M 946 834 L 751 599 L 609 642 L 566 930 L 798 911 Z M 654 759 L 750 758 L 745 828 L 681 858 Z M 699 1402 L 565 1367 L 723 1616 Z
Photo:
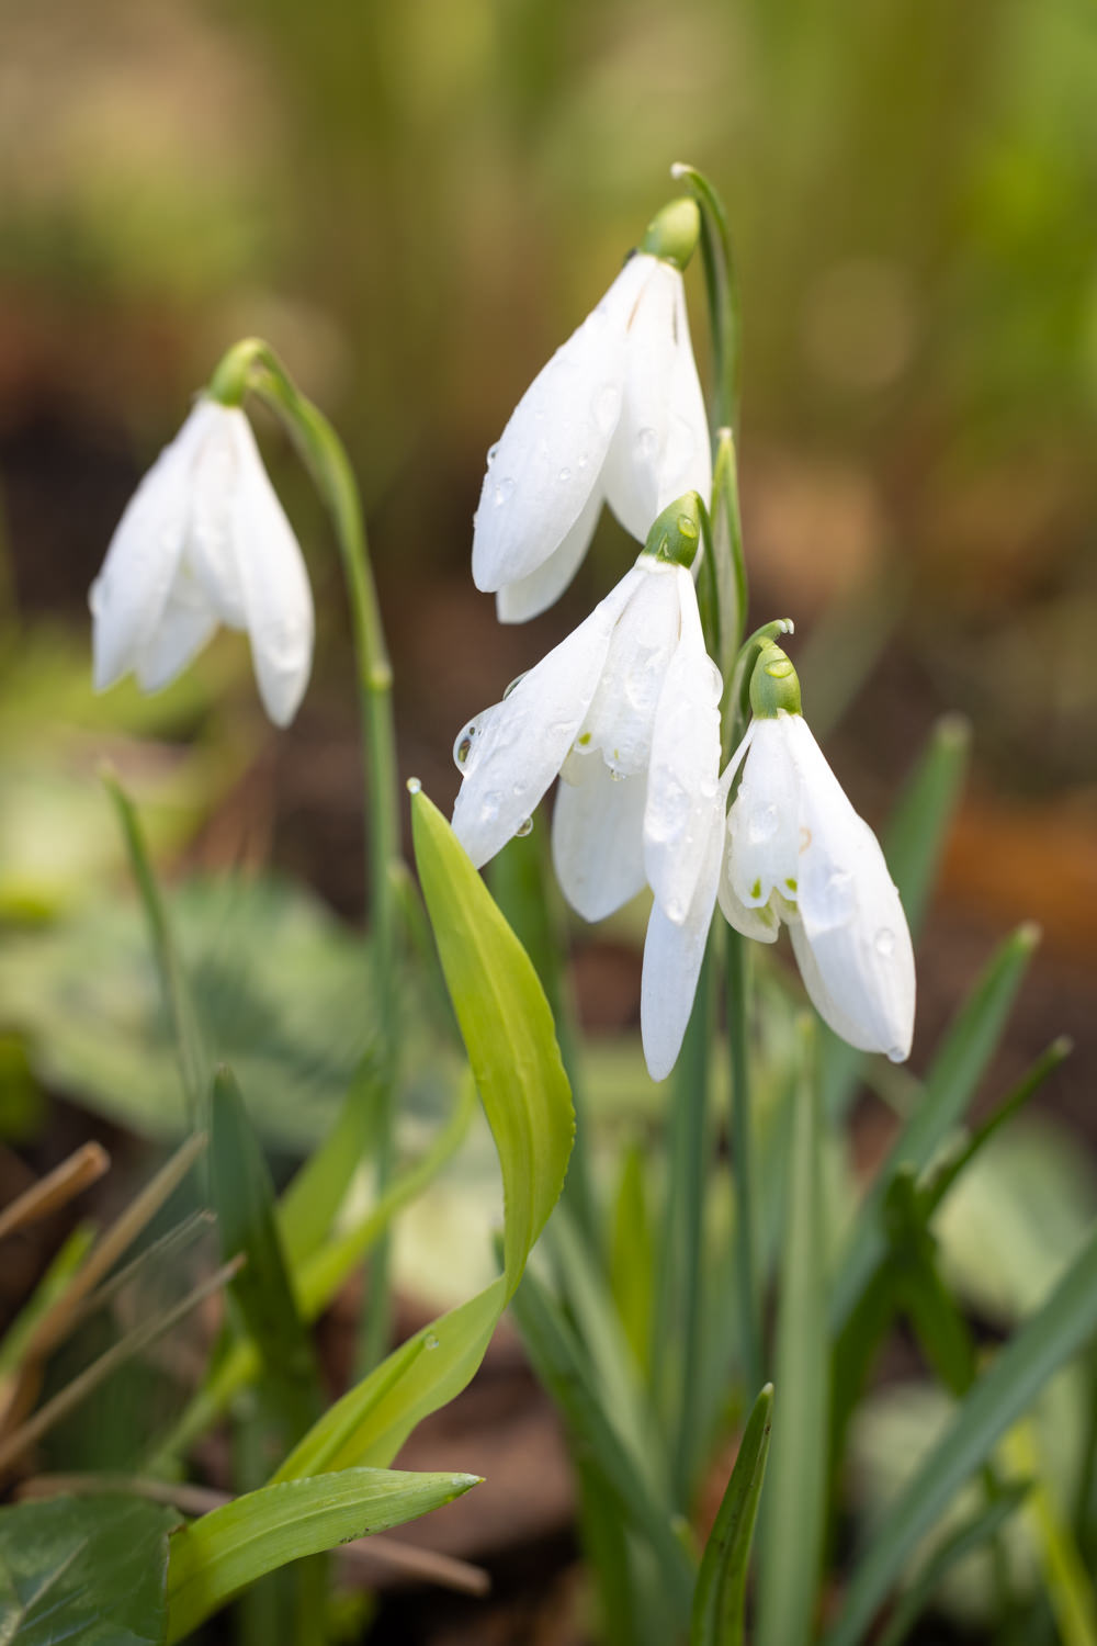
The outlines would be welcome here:
M 678 1057 L 719 872 L 722 681 L 687 570 L 699 530 L 696 494 L 671 504 L 587 621 L 454 744 L 454 830 L 477 867 L 525 833 L 561 774 L 553 859 L 572 907 L 600 920 L 655 892 L 641 1016 L 656 1078 Z

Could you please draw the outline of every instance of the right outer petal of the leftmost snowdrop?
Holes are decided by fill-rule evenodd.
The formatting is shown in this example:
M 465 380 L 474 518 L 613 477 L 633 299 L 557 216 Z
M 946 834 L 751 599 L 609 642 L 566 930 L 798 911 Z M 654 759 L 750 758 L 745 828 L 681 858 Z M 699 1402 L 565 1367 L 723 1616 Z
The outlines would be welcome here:
M 288 726 L 312 668 L 312 591 L 301 546 L 243 415 L 234 428 L 234 439 L 238 467 L 232 548 L 252 663 L 266 713 L 276 726 Z

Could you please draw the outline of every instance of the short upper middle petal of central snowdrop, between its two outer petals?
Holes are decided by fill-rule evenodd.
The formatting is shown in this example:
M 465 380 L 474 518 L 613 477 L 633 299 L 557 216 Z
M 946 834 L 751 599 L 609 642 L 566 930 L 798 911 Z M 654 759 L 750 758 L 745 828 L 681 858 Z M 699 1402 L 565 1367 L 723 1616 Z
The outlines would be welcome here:
M 599 690 L 582 723 L 589 747 L 622 775 L 646 772 L 663 681 L 679 640 L 678 566 L 641 555 L 636 586 L 620 616 Z

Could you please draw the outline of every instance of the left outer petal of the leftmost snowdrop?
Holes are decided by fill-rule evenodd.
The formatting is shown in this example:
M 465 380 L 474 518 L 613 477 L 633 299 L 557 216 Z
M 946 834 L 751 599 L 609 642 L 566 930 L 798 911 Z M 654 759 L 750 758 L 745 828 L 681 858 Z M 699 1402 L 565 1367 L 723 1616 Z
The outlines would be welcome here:
M 128 673 L 160 624 L 187 533 L 191 463 L 207 426 L 199 400 L 118 522 L 90 589 L 95 690 Z

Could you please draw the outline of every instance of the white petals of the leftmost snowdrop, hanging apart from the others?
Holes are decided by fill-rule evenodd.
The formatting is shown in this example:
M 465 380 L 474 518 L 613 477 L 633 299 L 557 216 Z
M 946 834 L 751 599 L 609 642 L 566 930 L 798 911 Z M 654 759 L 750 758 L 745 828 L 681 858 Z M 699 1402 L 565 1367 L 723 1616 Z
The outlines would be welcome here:
M 90 589 L 95 690 L 160 691 L 217 624 L 247 629 L 266 713 L 286 726 L 312 665 L 301 548 L 238 407 L 199 398 L 130 499 Z

